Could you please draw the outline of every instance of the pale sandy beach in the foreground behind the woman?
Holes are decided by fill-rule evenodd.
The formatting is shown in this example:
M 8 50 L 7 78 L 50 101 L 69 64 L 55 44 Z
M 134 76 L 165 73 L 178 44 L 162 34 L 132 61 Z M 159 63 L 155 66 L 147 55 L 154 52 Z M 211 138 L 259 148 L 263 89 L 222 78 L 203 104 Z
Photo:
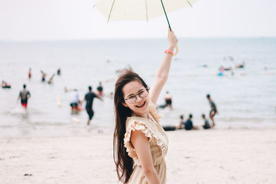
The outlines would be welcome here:
M 275 183 L 276 128 L 167 132 L 167 183 Z M 117 183 L 112 133 L 0 140 L 0 183 Z

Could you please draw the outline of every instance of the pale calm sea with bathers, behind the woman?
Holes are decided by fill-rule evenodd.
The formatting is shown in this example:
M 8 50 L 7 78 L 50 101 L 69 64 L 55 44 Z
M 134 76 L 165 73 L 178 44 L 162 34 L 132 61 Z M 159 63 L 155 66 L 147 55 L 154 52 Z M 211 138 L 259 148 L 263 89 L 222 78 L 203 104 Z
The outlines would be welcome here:
M 276 38 L 180 38 L 178 47 L 157 101 L 163 105 L 166 91 L 172 95 L 172 110 L 158 109 L 161 125 L 178 125 L 181 114 L 185 119 L 193 114 L 194 125 L 202 125 L 201 114 L 210 112 L 210 94 L 218 110 L 216 129 L 276 126 Z M 166 38 L 0 41 L 0 79 L 11 85 L 0 88 L 0 137 L 113 132 L 110 94 L 118 71 L 132 68 L 152 86 L 167 48 Z M 244 68 L 236 68 L 243 62 Z M 219 73 L 219 68 L 232 70 Z M 41 70 L 46 81 L 56 74 L 52 84 L 41 82 Z M 95 99 L 88 126 L 85 110 L 71 113 L 72 92 L 65 88 L 77 89 L 83 100 L 88 85 L 95 91 L 100 81 L 103 101 Z M 23 83 L 31 94 L 27 112 L 17 101 Z

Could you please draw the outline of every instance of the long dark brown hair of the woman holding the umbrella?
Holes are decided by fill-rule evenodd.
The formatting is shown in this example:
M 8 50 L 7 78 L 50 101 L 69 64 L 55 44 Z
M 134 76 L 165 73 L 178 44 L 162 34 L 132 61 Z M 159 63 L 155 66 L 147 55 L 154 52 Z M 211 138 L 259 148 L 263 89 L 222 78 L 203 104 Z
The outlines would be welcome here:
M 126 108 L 124 102 L 124 85 L 131 81 L 139 81 L 145 88 L 148 87 L 141 77 L 131 70 L 124 70 L 115 83 L 114 106 L 115 106 L 115 131 L 113 138 L 113 159 L 116 164 L 119 181 L 126 184 L 133 172 L 133 160 L 128 156 L 124 147 L 124 134 L 126 133 L 126 118 L 131 116 L 130 108 Z

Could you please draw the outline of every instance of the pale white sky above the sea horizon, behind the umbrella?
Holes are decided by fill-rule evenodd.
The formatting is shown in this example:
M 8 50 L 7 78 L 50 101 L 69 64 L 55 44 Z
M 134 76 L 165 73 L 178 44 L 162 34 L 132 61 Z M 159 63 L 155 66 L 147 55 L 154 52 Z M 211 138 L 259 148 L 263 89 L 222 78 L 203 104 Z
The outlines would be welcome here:
M 92 8 L 94 3 L 95 0 L 0 0 L 0 40 L 166 37 L 165 16 L 148 23 L 107 23 Z M 168 14 L 179 38 L 276 37 L 275 17 L 275 0 L 198 0 L 193 8 Z

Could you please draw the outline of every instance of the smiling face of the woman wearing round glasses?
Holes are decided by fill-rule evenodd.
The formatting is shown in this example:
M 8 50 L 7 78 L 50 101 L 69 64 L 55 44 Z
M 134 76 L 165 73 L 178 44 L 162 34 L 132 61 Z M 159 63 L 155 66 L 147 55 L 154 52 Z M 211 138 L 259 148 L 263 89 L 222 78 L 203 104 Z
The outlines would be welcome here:
M 131 81 L 124 85 L 122 90 L 124 93 L 123 105 L 138 116 L 148 116 L 148 91 L 144 85 L 139 81 Z

